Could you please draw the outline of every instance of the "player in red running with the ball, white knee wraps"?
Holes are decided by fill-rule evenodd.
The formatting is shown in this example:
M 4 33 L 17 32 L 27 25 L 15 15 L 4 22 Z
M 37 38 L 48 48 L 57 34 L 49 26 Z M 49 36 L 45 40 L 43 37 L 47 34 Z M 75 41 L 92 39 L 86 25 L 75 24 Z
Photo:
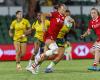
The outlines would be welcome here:
M 51 56 L 53 54 L 57 54 L 56 51 L 58 49 L 58 46 L 55 42 L 57 39 L 57 35 L 60 31 L 60 29 L 63 27 L 64 23 L 64 12 L 65 7 L 63 4 L 58 5 L 58 10 L 49 14 L 43 14 L 43 16 L 49 16 L 50 18 L 50 27 L 48 28 L 47 32 L 44 35 L 44 41 L 45 45 L 49 48 L 45 53 L 40 55 L 40 59 L 38 63 L 34 63 L 30 70 L 34 74 L 34 70 L 37 65 L 39 65 L 41 62 L 43 62 L 48 56 Z

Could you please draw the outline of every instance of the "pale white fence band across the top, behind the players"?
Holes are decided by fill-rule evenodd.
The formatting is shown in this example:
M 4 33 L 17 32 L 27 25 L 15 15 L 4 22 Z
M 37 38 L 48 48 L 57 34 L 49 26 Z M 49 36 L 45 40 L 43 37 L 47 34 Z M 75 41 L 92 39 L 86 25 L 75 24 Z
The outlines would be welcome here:
M 90 13 L 90 9 L 92 7 L 96 7 L 98 10 L 100 10 L 100 6 L 82 6 L 82 12 L 83 14 L 88 15 Z M 81 6 L 68 6 L 69 10 L 73 15 L 80 15 L 81 14 Z M 0 7 L 0 15 L 15 15 L 15 12 L 17 10 L 22 10 L 22 6 L 9 6 L 9 7 Z M 53 7 L 41 7 L 42 12 L 51 12 L 53 10 Z M 27 10 L 28 11 L 28 10 Z M 27 12 L 24 12 L 26 14 Z

